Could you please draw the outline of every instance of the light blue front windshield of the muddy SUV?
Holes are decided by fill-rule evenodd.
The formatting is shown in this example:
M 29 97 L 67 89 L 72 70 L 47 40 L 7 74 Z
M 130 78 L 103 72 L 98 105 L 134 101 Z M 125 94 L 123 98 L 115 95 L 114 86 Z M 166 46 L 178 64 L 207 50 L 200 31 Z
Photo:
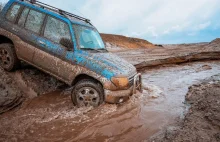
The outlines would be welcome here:
M 81 49 L 105 49 L 102 38 L 96 29 L 75 24 L 73 29 Z

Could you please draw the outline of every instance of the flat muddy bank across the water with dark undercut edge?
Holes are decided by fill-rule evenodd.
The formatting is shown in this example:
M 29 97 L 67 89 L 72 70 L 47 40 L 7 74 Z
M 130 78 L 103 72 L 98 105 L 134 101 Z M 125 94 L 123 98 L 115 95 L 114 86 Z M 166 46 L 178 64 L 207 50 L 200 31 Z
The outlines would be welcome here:
M 117 51 L 138 69 L 164 64 L 220 59 L 220 39 L 210 43 L 167 45 L 163 48 Z

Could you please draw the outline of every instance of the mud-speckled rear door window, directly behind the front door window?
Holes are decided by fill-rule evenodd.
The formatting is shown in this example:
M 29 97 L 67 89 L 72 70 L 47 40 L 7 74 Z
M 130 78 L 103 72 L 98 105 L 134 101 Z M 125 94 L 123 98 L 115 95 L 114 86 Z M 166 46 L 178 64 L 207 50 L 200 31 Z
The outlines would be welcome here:
M 30 10 L 25 28 L 35 33 L 40 33 L 41 26 L 43 25 L 45 14 Z

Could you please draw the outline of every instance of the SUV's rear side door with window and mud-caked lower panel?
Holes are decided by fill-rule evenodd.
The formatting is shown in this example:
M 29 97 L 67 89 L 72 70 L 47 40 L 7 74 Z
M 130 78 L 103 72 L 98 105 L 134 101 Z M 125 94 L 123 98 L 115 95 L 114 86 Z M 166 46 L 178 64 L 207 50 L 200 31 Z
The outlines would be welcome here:
M 38 46 L 37 38 L 40 35 L 44 18 L 44 13 L 24 7 L 18 18 L 17 26 L 14 27 L 22 40 L 17 47 L 17 54 L 29 63 L 33 63 L 35 48 Z

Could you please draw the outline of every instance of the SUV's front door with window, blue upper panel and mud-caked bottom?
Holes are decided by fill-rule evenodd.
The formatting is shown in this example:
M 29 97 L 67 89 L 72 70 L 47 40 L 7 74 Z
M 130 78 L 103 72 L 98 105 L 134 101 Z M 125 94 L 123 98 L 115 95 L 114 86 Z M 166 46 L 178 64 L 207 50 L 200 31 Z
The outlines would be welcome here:
M 65 82 L 71 82 L 74 65 L 66 60 L 67 48 L 60 44 L 61 39 L 71 41 L 69 25 L 60 19 L 47 16 L 42 36 L 37 39 L 40 50 L 35 51 L 33 62 L 38 67 L 55 75 Z

